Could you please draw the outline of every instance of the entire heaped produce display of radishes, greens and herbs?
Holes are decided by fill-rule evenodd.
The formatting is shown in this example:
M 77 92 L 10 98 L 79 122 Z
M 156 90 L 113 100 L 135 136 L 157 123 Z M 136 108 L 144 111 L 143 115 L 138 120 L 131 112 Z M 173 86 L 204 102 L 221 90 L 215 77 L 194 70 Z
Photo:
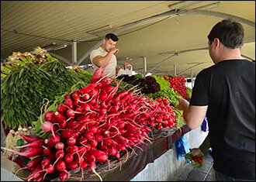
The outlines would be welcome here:
M 151 142 L 153 129 L 184 125 L 182 111 L 173 107 L 183 97 L 183 82 L 169 80 L 141 74 L 114 79 L 102 67 L 93 75 L 66 69 L 40 47 L 13 53 L 1 64 L 1 114 L 10 129 L 2 150 L 19 161 L 16 173 L 29 170 L 28 181 L 50 173 L 67 180 L 76 169 L 81 179 L 89 170 L 102 180 L 99 163 L 111 158 L 121 166 L 122 153 L 127 160 L 128 151 Z

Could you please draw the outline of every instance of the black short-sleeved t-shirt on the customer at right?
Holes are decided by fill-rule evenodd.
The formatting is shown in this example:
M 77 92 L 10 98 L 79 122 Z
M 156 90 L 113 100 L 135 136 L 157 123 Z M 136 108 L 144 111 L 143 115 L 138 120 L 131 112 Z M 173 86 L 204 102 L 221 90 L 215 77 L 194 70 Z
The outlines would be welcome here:
M 208 105 L 213 167 L 230 177 L 255 179 L 255 63 L 223 60 L 195 79 L 189 105 Z

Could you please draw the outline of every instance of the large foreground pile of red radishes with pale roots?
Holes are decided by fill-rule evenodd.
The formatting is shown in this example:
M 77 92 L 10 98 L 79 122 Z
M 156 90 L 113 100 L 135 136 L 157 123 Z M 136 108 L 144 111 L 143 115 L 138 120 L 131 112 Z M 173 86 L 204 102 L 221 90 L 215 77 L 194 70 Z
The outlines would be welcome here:
M 120 152 L 149 140 L 147 133 L 175 126 L 175 112 L 166 98 L 150 98 L 134 94 L 136 91 L 117 91 L 112 79 L 99 67 L 91 84 L 71 94 L 58 105 L 57 112 L 50 111 L 41 121 L 47 139 L 23 136 L 28 145 L 20 156 L 33 157 L 26 166 L 32 169 L 26 179 L 43 180 L 47 173 L 59 171 L 59 179 L 66 180 L 68 170 L 95 171 L 95 162 L 109 163 L 109 156 L 120 162 Z M 5 148 L 2 148 L 5 149 Z M 10 149 L 9 149 L 10 150 Z M 10 150 L 14 152 L 13 150 Z

